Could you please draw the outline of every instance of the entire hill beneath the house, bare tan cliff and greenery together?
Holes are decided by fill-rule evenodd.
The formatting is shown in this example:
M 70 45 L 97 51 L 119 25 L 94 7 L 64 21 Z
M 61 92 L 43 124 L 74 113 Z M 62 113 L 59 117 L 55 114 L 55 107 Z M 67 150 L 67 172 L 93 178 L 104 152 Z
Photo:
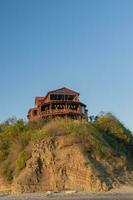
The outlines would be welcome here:
M 133 185 L 133 137 L 111 114 L 93 122 L 0 125 L 0 191 L 108 191 Z

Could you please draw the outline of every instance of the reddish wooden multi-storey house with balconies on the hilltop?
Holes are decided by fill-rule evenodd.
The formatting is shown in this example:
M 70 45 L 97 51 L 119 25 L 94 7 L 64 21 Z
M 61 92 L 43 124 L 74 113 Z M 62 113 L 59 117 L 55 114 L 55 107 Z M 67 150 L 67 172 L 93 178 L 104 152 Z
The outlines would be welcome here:
M 35 107 L 29 109 L 30 121 L 69 117 L 72 119 L 88 119 L 86 105 L 79 101 L 79 93 L 68 88 L 50 91 L 46 96 L 35 98 Z

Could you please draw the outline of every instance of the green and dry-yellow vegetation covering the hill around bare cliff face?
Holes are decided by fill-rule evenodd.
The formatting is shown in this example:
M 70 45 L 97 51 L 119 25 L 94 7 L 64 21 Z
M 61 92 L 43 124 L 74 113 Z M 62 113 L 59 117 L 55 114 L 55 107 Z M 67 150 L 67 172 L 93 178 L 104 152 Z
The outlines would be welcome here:
M 113 162 L 114 156 L 133 159 L 133 136 L 112 114 L 93 122 L 55 119 L 50 122 L 24 122 L 9 119 L 0 124 L 0 175 L 11 182 L 26 166 L 33 143 L 61 135 L 75 135 L 83 151 Z

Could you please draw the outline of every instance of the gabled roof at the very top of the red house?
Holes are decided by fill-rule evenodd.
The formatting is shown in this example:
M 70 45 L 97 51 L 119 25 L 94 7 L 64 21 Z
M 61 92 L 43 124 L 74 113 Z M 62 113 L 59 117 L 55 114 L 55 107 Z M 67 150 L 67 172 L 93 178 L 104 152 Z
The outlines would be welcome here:
M 47 93 L 46 96 L 48 96 L 49 94 L 73 94 L 73 95 L 80 95 L 78 92 L 75 92 L 74 90 L 71 90 L 71 89 L 66 88 L 66 87 L 50 91 L 50 92 Z

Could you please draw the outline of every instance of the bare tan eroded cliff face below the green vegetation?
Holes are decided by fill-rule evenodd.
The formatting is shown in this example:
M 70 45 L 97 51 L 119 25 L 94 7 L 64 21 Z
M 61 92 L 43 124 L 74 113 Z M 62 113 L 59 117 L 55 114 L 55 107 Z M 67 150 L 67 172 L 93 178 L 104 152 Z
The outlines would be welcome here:
M 119 158 L 118 162 L 126 166 Z M 85 153 L 75 136 L 50 137 L 33 147 L 26 168 L 13 182 L 12 192 L 108 191 L 122 181 L 132 184 L 133 174 L 126 167 L 119 175 L 113 173 L 113 167 Z

